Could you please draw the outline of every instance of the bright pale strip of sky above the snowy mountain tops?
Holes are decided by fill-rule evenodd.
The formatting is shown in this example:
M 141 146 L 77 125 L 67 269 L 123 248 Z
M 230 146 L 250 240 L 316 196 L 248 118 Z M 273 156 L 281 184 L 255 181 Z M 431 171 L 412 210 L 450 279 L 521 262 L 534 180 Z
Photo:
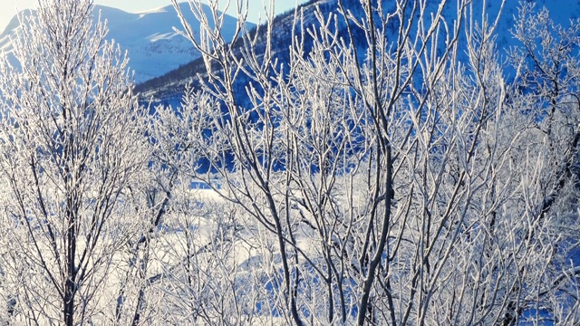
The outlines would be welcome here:
M 178 0 L 179 2 L 185 0 Z M 257 18 L 259 13 L 264 12 L 264 3 L 266 1 L 269 3 L 271 0 L 248 0 L 249 1 L 249 11 L 248 20 L 257 23 Z M 232 9 L 235 10 L 236 0 L 232 1 Z M 297 0 L 299 4 L 305 2 L 305 0 Z M 170 0 L 94 0 L 96 5 L 108 5 L 114 8 L 119 8 L 130 13 L 139 13 L 149 9 L 159 8 L 166 5 L 171 5 Z M 226 0 L 220 0 L 220 4 L 226 4 Z M 296 0 L 277 0 L 275 1 L 275 12 L 283 13 L 288 9 L 295 7 Z M 18 10 L 24 10 L 27 8 L 32 8 L 36 5 L 36 0 L 0 0 L 0 34 L 4 32 L 5 27 L 10 20 L 16 14 L 16 8 Z M 264 14 L 262 14 L 264 17 Z M 264 18 L 262 18 L 264 19 Z

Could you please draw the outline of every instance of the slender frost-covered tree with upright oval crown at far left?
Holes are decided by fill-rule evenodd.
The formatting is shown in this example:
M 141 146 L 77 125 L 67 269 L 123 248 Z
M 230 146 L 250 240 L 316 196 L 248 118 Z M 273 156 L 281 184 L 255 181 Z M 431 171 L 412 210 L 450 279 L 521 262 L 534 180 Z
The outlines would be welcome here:
M 1 322 L 111 323 L 146 211 L 146 111 L 91 0 L 39 0 L 20 24 L 0 63 Z

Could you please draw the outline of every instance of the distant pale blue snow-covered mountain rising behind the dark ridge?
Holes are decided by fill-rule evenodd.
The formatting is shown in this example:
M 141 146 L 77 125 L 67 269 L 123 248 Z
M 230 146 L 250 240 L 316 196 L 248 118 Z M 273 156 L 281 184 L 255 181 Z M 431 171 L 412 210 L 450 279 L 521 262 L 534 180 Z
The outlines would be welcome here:
M 193 29 L 197 30 L 198 24 L 188 3 L 181 3 L 180 7 Z M 209 10 L 208 6 L 204 10 Z M 107 20 L 108 38 L 115 40 L 121 45 L 121 49 L 129 52 L 129 65 L 135 71 L 137 83 L 177 69 L 199 56 L 191 43 L 173 30 L 173 26 L 181 28 L 181 23 L 172 5 L 135 14 L 95 5 L 95 20 L 99 12 L 102 20 Z M 31 14 L 31 11 L 25 11 L 24 14 Z M 232 37 L 235 27 L 236 19 L 226 16 L 224 34 Z M 11 37 L 18 34 L 19 28 L 18 19 L 14 16 L 5 32 L 0 34 L 1 51 L 11 53 Z

